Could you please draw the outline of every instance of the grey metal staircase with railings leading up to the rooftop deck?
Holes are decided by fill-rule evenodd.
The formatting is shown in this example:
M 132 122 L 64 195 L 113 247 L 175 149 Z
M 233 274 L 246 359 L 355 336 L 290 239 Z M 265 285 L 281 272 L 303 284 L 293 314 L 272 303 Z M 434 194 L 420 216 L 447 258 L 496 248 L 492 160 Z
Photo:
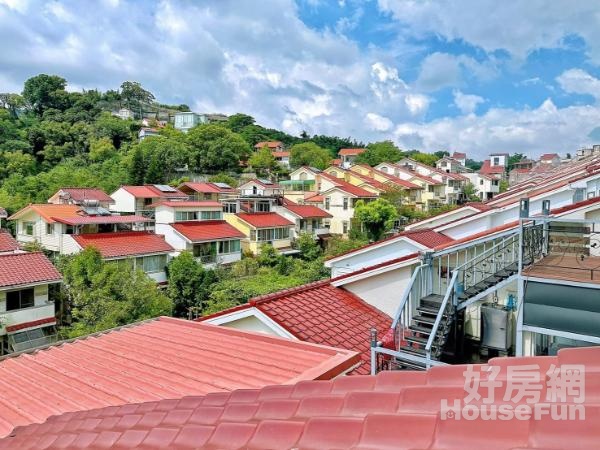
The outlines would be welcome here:
M 450 258 L 426 256 L 415 269 L 392 324 L 395 368 L 443 364 L 443 357 L 452 353 L 448 344 L 457 311 L 512 282 L 519 270 L 518 258 L 518 235 L 502 239 L 455 267 L 450 267 Z

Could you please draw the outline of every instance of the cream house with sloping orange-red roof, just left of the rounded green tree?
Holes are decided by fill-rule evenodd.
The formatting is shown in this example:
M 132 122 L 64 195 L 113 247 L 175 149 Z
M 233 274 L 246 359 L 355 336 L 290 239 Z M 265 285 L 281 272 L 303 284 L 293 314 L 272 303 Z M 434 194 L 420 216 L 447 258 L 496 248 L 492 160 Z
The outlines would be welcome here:
M 377 198 L 377 194 L 328 173 L 319 174 L 319 180 L 323 209 L 331 214 L 331 233 L 347 235 L 352 227 L 356 202 L 371 201 Z

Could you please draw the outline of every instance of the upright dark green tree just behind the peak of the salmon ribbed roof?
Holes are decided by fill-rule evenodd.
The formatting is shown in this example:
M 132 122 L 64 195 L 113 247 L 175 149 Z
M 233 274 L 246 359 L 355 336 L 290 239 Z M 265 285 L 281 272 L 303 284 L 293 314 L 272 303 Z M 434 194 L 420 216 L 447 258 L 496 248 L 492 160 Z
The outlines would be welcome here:
M 190 252 L 181 252 L 169 262 L 167 292 L 173 301 L 173 314 L 188 317 L 190 308 L 202 309 L 206 295 L 202 264 Z

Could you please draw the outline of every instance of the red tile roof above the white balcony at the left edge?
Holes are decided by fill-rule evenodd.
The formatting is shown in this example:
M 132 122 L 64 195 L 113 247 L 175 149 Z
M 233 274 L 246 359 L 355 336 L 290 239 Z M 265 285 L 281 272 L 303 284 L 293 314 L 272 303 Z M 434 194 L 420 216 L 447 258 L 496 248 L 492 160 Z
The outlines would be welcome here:
M 59 282 L 62 276 L 43 253 L 0 255 L 0 287 Z

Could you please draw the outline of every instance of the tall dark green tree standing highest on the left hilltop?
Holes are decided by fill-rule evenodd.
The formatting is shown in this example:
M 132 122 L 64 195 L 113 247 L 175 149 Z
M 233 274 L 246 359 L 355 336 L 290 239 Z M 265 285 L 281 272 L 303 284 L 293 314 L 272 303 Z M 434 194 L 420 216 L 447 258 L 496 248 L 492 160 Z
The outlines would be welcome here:
M 67 95 L 67 80 L 56 75 L 40 74 L 23 86 L 23 100 L 39 117 L 49 108 L 62 109 Z

